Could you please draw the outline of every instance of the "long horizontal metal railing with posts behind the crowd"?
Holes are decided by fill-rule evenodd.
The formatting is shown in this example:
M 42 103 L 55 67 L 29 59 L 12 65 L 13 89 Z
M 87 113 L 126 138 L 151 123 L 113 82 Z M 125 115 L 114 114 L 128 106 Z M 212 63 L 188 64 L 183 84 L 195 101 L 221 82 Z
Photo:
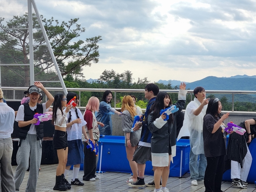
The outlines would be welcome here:
M 46 87 L 47 90 L 54 93 L 60 93 L 63 91 L 62 88 L 54 88 L 54 87 Z M 27 87 L 2 87 L 3 92 L 11 91 L 12 97 L 5 97 L 7 101 L 21 101 L 24 97 L 20 97 L 20 91 L 27 90 Z M 81 92 L 83 91 L 91 91 L 91 92 L 104 92 L 106 90 L 112 91 L 114 93 L 114 108 L 116 108 L 116 93 L 117 92 L 126 92 L 126 93 L 144 93 L 144 89 L 91 89 L 91 88 L 67 88 L 67 91 L 76 91 L 79 93 L 79 98 L 81 98 Z M 167 93 L 178 93 L 178 90 L 159 90 L 165 91 Z M 18 94 L 17 94 L 18 93 Z M 237 94 L 253 94 L 256 95 L 256 91 L 235 91 L 235 90 L 206 90 L 207 94 L 231 94 L 232 96 L 232 111 L 234 111 L 234 96 Z M 193 99 L 193 90 L 188 90 L 188 94 L 190 94 L 190 101 Z M 46 98 L 45 98 L 46 99 Z M 80 107 L 80 101 L 79 101 Z

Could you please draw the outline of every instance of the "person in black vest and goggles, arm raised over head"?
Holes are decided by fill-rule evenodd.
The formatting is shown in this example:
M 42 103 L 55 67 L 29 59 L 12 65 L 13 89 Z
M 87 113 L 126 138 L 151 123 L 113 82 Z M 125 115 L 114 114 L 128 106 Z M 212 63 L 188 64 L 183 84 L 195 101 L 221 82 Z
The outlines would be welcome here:
M 40 92 L 44 91 L 49 99 L 46 103 L 37 103 Z M 42 157 L 42 139 L 44 137 L 44 124 L 34 125 L 37 123 L 37 118 L 34 118 L 35 113 L 45 113 L 52 105 L 54 98 L 45 89 L 42 83 L 34 82 L 28 93 L 29 102 L 19 106 L 15 121 L 19 125 L 19 149 L 16 155 L 17 168 L 15 170 L 14 180 L 16 191 L 23 181 L 26 170 L 29 168 L 29 179 L 27 182 L 26 191 L 36 191 L 39 167 Z M 30 163 L 29 163 L 30 158 Z

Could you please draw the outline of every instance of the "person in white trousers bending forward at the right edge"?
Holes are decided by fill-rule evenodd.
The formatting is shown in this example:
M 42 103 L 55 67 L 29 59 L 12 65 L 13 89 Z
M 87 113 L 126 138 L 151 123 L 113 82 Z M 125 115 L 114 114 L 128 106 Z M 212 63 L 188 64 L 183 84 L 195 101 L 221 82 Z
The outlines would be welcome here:
M 229 136 L 227 158 L 231 160 L 231 184 L 246 189 L 246 180 L 252 165 L 252 155 L 247 143 L 251 142 L 251 136 L 256 133 L 256 118 L 245 120 L 238 126 L 246 132 L 242 135 L 234 132 Z

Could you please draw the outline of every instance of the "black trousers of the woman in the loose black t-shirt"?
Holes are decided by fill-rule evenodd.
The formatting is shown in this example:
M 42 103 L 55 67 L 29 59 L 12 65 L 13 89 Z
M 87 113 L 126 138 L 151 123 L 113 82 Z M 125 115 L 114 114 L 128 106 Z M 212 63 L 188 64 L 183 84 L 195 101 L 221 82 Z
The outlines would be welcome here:
M 205 192 L 222 192 L 221 182 L 224 172 L 225 155 L 206 157 L 207 166 L 204 174 Z

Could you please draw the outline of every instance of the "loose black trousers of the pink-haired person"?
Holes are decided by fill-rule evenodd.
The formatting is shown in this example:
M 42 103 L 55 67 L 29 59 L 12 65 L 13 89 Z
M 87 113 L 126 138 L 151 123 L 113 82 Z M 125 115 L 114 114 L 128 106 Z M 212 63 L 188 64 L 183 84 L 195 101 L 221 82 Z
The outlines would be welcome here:
M 95 140 L 95 144 L 98 144 L 98 141 Z M 83 163 L 83 180 L 89 181 L 91 178 L 96 177 L 95 172 L 97 169 L 98 156 L 96 156 L 94 151 L 91 151 L 91 148 L 87 148 L 88 144 L 83 142 L 83 152 L 84 152 L 84 163 Z

